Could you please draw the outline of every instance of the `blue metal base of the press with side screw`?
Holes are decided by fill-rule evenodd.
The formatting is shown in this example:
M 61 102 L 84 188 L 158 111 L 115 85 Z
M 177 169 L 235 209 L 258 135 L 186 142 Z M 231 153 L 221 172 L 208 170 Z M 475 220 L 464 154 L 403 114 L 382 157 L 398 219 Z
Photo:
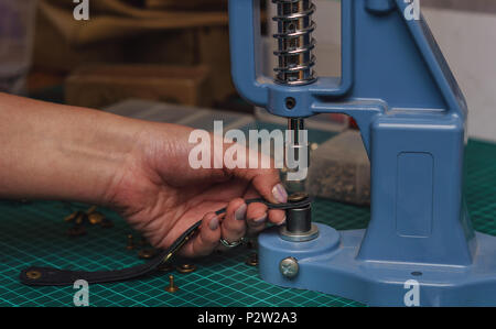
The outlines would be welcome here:
M 370 306 L 411 306 L 411 300 L 419 306 L 496 306 L 496 237 L 476 233 L 477 249 L 470 266 L 373 262 L 356 257 L 365 230 L 317 226 L 319 238 L 309 242 L 284 241 L 277 228 L 261 233 L 261 278 Z M 279 262 L 288 256 L 300 265 L 292 279 L 279 271 Z M 412 297 L 414 289 L 418 299 Z

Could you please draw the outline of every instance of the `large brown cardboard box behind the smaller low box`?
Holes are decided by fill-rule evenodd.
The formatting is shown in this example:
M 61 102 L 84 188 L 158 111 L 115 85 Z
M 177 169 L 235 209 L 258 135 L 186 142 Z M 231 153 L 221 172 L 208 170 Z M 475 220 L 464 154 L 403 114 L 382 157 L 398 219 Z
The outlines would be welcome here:
M 211 96 L 202 105 L 223 102 L 236 92 L 230 79 L 228 19 L 227 11 L 222 9 L 224 0 L 208 2 L 212 4 L 208 12 L 186 11 L 184 8 L 172 11 L 169 9 L 172 2 L 164 0 L 157 0 L 154 4 L 166 9 L 153 10 L 121 0 L 91 2 L 90 20 L 84 22 L 74 20 L 74 6 L 67 6 L 66 1 L 41 0 L 34 47 L 35 69 L 68 75 L 88 64 L 202 66 L 208 72 Z M 175 3 L 179 4 L 177 1 Z M 151 77 L 153 75 L 151 73 Z M 145 86 L 139 89 L 144 90 Z M 75 97 L 74 87 L 74 84 L 69 86 L 66 99 L 78 99 L 73 105 L 83 105 L 83 98 Z M 148 96 L 151 99 L 170 100 L 168 90 L 153 88 L 153 91 L 154 95 L 149 92 Z

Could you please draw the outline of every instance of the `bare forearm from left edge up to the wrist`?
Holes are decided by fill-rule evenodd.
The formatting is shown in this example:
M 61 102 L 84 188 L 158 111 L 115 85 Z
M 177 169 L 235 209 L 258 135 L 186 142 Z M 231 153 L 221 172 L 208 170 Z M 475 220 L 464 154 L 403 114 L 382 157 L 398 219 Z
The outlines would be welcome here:
M 140 124 L 0 95 L 0 197 L 104 204 L 133 153 Z

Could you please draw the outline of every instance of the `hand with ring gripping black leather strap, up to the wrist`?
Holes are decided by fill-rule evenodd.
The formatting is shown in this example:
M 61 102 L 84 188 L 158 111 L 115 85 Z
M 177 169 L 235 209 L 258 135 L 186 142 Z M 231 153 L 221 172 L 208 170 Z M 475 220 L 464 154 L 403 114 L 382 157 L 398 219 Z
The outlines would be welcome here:
M 190 151 L 195 146 L 188 143 L 191 131 L 174 124 L 153 124 L 153 129 L 140 133 L 116 173 L 109 204 L 154 246 L 163 249 L 202 219 L 200 233 L 181 251 L 185 256 L 207 255 L 223 248 L 220 238 L 239 241 L 247 233 L 261 231 L 268 221 L 284 222 L 282 210 L 245 202 L 257 197 L 276 204 L 287 201 L 277 169 L 193 169 L 188 165 Z M 216 216 L 215 211 L 224 207 L 226 213 Z

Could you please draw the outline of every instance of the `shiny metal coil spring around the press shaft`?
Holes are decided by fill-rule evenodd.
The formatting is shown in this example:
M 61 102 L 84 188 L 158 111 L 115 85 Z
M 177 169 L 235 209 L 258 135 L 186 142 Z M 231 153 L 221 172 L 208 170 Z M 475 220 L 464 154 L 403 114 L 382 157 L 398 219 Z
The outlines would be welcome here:
M 272 20 L 278 23 L 278 33 L 273 35 L 278 40 L 274 55 L 279 58 L 279 66 L 274 68 L 276 83 L 301 86 L 315 81 L 315 40 L 312 37 L 315 31 L 312 20 L 315 6 L 312 0 L 272 2 L 277 4 L 277 15 Z

